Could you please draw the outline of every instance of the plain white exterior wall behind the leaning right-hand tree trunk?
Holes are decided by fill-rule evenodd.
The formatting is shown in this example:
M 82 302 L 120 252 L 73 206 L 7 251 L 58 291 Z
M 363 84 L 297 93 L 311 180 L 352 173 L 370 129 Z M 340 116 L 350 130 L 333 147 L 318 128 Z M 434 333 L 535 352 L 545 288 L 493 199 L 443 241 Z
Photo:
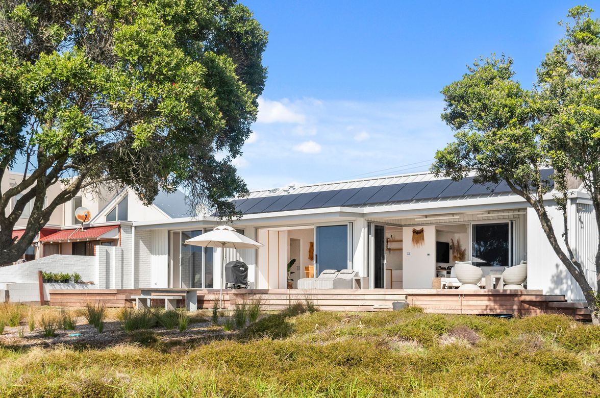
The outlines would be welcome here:
M 571 247 L 578 261 L 584 265 L 588 282 L 595 286 L 594 260 L 596 244 L 598 244 L 598 229 L 593 206 L 577 204 L 572 199 L 570 201 L 568 225 Z M 554 204 L 547 207 L 547 213 L 552 220 L 561 247 L 566 250 L 561 238 L 564 231 L 562 213 Z M 527 234 L 527 288 L 542 289 L 545 294 L 564 294 L 568 300 L 584 300 L 583 292 L 554 253 L 532 208 L 527 209 Z

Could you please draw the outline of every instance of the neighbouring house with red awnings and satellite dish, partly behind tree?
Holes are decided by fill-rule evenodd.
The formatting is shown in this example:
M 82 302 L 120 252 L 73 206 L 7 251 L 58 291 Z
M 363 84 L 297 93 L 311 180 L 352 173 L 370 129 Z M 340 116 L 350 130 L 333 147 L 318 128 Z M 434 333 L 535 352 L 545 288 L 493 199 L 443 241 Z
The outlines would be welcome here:
M 22 173 L 9 170 L 2 178 L 2 191 L 21 178 Z M 60 192 L 60 183 L 50 186 L 46 201 L 52 201 Z M 91 213 L 91 220 L 83 225 L 75 217 L 78 207 L 88 208 Z M 130 286 L 135 279 L 131 272 L 132 220 L 160 222 L 192 215 L 181 191 L 170 194 L 161 191 L 154 203 L 146 206 L 130 188 L 118 191 L 106 188 L 99 193 L 84 190 L 56 208 L 18 264 L 0 267 L 0 290 L 12 287 L 17 291 L 24 283 L 37 283 L 38 271 L 79 273 L 98 288 Z M 26 207 L 13 230 L 14 238 L 23 235 L 28 217 Z M 31 294 L 37 294 L 33 290 Z

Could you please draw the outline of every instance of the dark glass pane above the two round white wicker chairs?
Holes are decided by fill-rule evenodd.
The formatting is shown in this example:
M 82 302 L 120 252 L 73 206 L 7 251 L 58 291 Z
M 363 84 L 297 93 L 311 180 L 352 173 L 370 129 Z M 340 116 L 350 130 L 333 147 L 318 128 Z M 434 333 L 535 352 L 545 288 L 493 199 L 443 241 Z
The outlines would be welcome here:
M 509 267 L 510 239 L 508 223 L 473 224 L 473 265 Z

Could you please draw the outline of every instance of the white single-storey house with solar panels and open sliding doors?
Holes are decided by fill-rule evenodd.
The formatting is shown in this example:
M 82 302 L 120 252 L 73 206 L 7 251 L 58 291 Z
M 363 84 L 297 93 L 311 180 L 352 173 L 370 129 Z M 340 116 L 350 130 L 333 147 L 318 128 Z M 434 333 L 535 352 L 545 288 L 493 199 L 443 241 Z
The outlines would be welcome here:
M 296 288 L 301 277 L 350 269 L 367 277 L 370 289 L 431 289 L 434 278 L 450 276 L 456 259 L 481 267 L 527 261 L 527 289 L 583 300 L 532 208 L 505 183 L 412 173 L 254 191 L 235 203 L 243 216 L 233 226 L 263 244 L 226 252 L 226 261 L 248 264 L 251 288 Z M 560 234 L 562 214 L 551 193 L 547 204 Z M 574 188 L 569 232 L 590 282 L 598 243 L 594 217 L 589 195 Z M 221 253 L 184 242 L 221 223 L 215 215 L 134 220 L 131 284 L 123 287 L 218 288 Z M 296 259 L 293 281 L 290 259 Z

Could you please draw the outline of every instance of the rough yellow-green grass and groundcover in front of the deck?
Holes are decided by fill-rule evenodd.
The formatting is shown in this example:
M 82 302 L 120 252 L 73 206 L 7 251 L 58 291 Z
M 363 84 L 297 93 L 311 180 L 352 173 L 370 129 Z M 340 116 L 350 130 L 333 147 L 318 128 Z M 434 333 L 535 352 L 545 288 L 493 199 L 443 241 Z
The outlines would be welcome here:
M 204 315 L 126 332 L 112 312 L 102 333 L 79 316 L 79 338 L 29 332 L 24 317 L 0 336 L 0 396 L 600 396 L 600 327 L 566 316 L 294 306 L 224 331 Z

